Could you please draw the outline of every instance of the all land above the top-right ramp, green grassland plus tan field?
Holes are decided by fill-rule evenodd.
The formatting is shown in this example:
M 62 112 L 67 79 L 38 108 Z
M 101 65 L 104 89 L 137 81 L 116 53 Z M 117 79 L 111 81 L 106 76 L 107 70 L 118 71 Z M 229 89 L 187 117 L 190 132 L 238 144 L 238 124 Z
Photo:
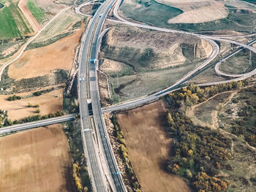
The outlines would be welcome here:
M 154 4 L 158 4 L 158 7 Z M 245 1 L 125 0 L 120 9 L 127 18 L 166 28 L 186 31 L 234 30 L 244 33 L 255 31 L 256 7 Z

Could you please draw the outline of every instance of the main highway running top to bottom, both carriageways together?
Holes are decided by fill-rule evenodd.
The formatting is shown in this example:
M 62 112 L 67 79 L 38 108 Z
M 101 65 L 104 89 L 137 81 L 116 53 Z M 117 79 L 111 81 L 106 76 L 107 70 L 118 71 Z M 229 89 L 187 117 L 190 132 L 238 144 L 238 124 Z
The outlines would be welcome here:
M 94 191 L 107 191 L 107 182 L 110 184 L 110 188 L 113 191 L 126 191 L 124 183 L 121 180 L 121 174 L 118 174 L 118 166 L 116 164 L 113 151 L 108 140 L 108 134 L 105 129 L 105 123 L 102 117 L 101 105 L 99 100 L 99 91 L 97 83 L 97 63 L 90 62 L 91 59 L 97 58 L 97 43 L 99 39 L 100 31 L 102 30 L 105 18 L 108 15 L 110 7 L 113 6 L 115 0 L 105 1 L 94 17 L 91 18 L 85 40 L 82 41 L 83 52 L 80 59 L 80 74 L 79 74 L 79 103 L 80 103 L 80 116 L 82 123 L 83 135 L 85 136 L 85 150 L 87 150 L 87 158 L 89 158 L 91 179 L 94 183 Z M 80 9 L 76 9 L 76 12 L 80 13 Z M 89 66 L 89 69 L 88 69 Z M 89 72 L 89 73 L 88 73 Z M 89 74 L 89 76 L 88 76 Z M 89 88 L 88 82 L 89 80 Z M 87 96 L 90 96 L 92 112 L 94 115 L 94 125 L 96 132 L 91 128 L 91 122 L 89 120 L 89 109 L 87 103 Z M 93 137 L 98 138 L 99 146 L 96 147 Z M 99 154 L 96 151 L 99 150 Z M 90 156 L 90 153 L 94 155 Z M 104 153 L 104 154 L 102 154 Z M 102 157 L 102 158 L 100 158 Z M 97 161 L 95 161 L 97 160 Z M 95 171 L 96 170 L 96 171 Z M 98 174 L 96 174 L 97 172 Z M 100 173 L 100 174 L 99 174 Z M 104 177 L 105 176 L 105 177 Z M 98 186 L 97 186 L 98 185 Z

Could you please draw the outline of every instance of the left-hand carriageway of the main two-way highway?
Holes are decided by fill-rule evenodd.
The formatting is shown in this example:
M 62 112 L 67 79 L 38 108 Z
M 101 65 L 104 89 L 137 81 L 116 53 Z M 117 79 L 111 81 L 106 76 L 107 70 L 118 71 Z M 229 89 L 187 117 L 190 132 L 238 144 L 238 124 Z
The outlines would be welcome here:
M 102 9 L 102 6 L 98 10 Z M 78 11 L 78 9 L 76 10 Z M 94 34 L 94 26 L 97 20 L 92 18 L 89 22 L 86 34 L 82 37 L 82 47 L 80 49 L 79 80 L 78 80 L 78 98 L 80 110 L 81 133 L 83 139 L 83 149 L 85 151 L 89 175 L 94 191 L 108 191 L 108 185 L 105 180 L 105 174 L 99 159 L 99 150 L 97 149 L 96 134 L 91 126 L 89 118 L 89 107 L 87 96 L 88 90 L 88 70 L 89 70 L 89 50 L 91 50 L 91 37 Z

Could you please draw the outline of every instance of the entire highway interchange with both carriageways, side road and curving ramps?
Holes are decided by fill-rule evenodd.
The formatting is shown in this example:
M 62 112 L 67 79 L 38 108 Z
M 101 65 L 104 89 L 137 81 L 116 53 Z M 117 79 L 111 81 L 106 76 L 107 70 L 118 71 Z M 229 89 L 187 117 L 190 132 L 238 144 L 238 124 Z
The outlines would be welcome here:
M 99 100 L 99 88 L 97 83 L 97 55 L 99 50 L 99 37 L 100 32 L 102 31 L 102 26 L 105 22 L 105 19 L 108 15 L 108 12 L 113 7 L 115 0 L 106 0 L 94 14 L 94 17 L 91 18 L 88 27 L 86 28 L 86 34 L 83 35 L 81 39 L 81 49 L 80 49 L 80 68 L 79 68 L 79 81 L 78 81 L 78 93 L 79 93 L 79 107 L 80 107 L 80 122 L 81 122 L 81 132 L 83 138 L 84 150 L 87 158 L 87 164 L 89 167 L 89 174 L 91 176 L 91 182 L 94 188 L 94 191 L 108 191 L 111 189 L 112 191 L 126 191 L 124 187 L 124 183 L 121 179 L 121 174 L 118 172 L 118 166 L 116 164 L 115 157 L 113 155 L 113 151 L 110 146 L 110 141 L 108 139 L 108 133 L 105 128 L 105 122 L 102 117 L 102 112 L 113 112 L 118 110 L 128 110 L 133 107 L 140 106 L 142 104 L 146 104 L 150 101 L 154 101 L 159 99 L 160 96 L 164 96 L 167 93 L 170 93 L 178 86 L 182 85 L 184 82 L 189 80 L 189 78 L 193 77 L 197 72 L 200 72 L 201 69 L 206 67 L 215 58 L 219 55 L 219 45 L 215 41 L 225 41 L 230 42 L 234 45 L 238 45 L 238 49 L 230 53 L 229 55 L 222 58 L 221 61 L 217 62 L 215 66 L 215 70 L 218 74 L 227 76 L 227 77 L 236 77 L 233 80 L 244 80 L 247 77 L 250 77 L 256 74 L 256 69 L 252 72 L 248 72 L 246 74 L 225 74 L 219 71 L 219 65 L 222 61 L 225 61 L 227 58 L 230 58 L 232 55 L 235 55 L 241 49 L 246 48 L 256 53 L 256 49 L 251 47 L 253 42 L 249 42 L 249 44 L 244 45 L 241 42 L 234 41 L 232 39 L 228 39 L 228 37 L 210 37 L 202 34 L 189 33 L 187 31 L 178 31 L 167 28 L 159 28 L 155 26 L 148 26 L 140 23 L 132 23 L 124 18 L 121 18 L 118 15 L 118 7 L 121 4 L 121 0 L 117 1 L 116 7 L 113 9 L 113 13 L 121 20 L 120 23 L 137 26 L 140 28 L 148 28 L 156 31 L 164 31 L 170 33 L 181 33 L 181 34 L 189 34 L 194 35 L 199 38 L 205 39 L 209 42 L 213 47 L 213 52 L 211 55 L 203 61 L 200 66 L 197 66 L 191 72 L 186 74 L 180 80 L 177 80 L 173 85 L 166 88 L 165 90 L 159 91 L 149 96 L 143 96 L 139 99 L 133 99 L 130 101 L 123 102 L 121 104 L 116 104 L 110 107 L 102 108 Z M 82 7 L 82 6 L 80 6 Z M 78 14 L 82 14 L 80 12 L 80 7 L 76 9 Z M 118 21 L 119 22 L 119 21 Z M 255 34 L 251 34 L 249 36 L 254 36 Z M 248 37 L 249 37 L 248 36 Z M 246 37 L 246 36 L 243 36 Z M 208 82 L 200 85 L 216 85 L 224 82 L 231 82 L 233 80 L 224 80 L 220 82 Z M 89 102 L 91 102 L 93 118 L 89 115 Z M 65 115 L 59 118 L 51 118 L 48 120 L 39 120 L 33 123 L 24 123 L 17 126 L 11 126 L 6 128 L 1 128 L 0 134 L 7 134 L 12 131 L 22 131 L 28 128 L 35 128 L 38 126 L 45 126 L 53 123 L 61 123 L 67 120 L 73 120 L 75 118 L 75 114 Z

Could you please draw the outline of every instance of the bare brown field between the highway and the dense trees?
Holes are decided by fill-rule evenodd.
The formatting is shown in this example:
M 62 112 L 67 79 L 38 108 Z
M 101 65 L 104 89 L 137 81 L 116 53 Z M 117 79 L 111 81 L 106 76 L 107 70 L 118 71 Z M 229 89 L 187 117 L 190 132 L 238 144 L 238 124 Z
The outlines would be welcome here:
M 190 191 L 180 177 L 165 172 L 172 139 L 167 126 L 164 101 L 117 115 L 127 142 L 129 158 L 143 191 Z

